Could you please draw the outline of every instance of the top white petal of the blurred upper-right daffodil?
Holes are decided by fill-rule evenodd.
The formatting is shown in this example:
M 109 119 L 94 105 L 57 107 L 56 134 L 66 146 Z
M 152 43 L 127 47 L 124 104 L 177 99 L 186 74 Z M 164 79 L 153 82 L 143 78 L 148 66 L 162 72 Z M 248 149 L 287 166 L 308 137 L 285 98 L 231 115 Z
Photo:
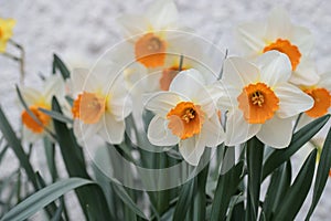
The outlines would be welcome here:
M 284 8 L 274 8 L 268 18 L 266 38 L 269 41 L 276 39 L 289 39 L 291 36 L 291 21 Z

